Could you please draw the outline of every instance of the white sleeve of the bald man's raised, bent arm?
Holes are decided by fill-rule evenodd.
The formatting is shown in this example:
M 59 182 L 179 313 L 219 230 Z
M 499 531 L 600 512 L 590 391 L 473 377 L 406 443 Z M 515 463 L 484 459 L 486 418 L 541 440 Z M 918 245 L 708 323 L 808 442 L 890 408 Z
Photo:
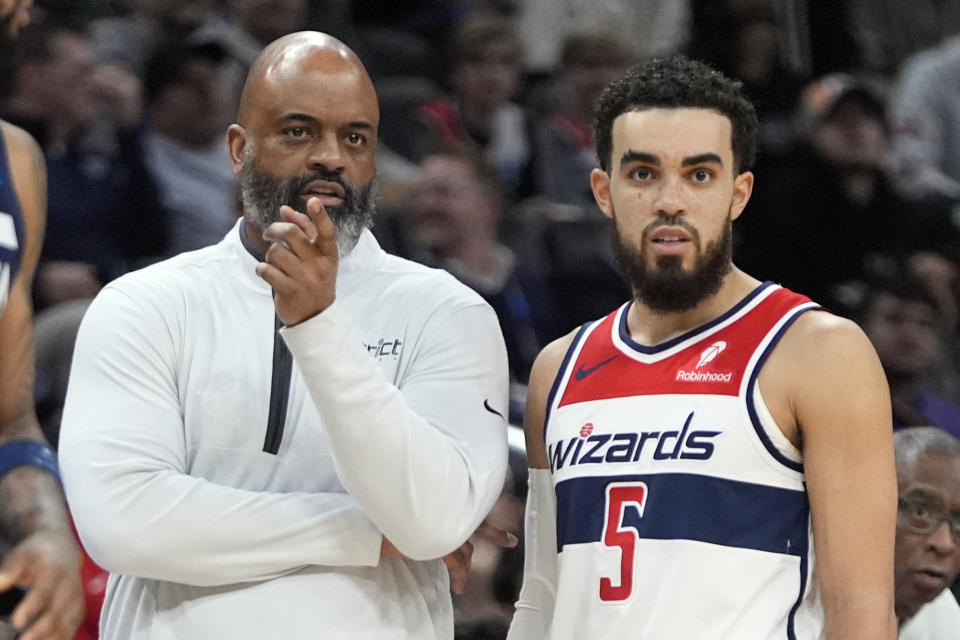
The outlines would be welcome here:
M 281 335 L 340 482 L 402 553 L 439 558 L 470 537 L 503 487 L 508 380 L 496 316 L 479 299 L 428 313 L 394 386 L 340 304 Z

